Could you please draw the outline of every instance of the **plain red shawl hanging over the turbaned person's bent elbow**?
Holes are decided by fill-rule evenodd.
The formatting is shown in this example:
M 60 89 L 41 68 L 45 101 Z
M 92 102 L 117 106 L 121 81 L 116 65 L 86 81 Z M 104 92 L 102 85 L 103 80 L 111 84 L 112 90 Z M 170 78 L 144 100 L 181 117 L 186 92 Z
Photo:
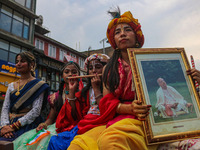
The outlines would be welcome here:
M 78 134 L 83 134 L 94 127 L 107 124 L 108 121 L 115 117 L 119 102 L 119 99 L 117 99 L 112 93 L 105 95 L 100 100 L 99 104 L 101 115 L 86 115 L 84 119 L 78 123 Z

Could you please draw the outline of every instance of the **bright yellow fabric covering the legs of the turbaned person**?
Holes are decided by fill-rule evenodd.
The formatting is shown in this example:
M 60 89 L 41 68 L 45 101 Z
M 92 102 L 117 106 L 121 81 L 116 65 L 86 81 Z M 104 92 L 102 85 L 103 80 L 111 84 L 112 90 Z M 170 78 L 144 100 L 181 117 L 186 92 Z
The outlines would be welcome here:
M 123 119 L 106 128 L 99 126 L 78 135 L 68 150 L 147 150 L 142 122 L 135 119 Z

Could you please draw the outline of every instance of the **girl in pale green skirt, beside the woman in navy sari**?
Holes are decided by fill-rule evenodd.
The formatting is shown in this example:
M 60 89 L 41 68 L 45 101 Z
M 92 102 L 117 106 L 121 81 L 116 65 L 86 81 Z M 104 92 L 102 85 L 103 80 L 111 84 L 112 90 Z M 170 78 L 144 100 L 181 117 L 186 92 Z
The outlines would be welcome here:
M 60 111 L 62 105 L 65 103 L 67 98 L 69 97 L 69 90 L 71 90 L 71 94 L 75 94 L 75 92 L 78 91 L 78 82 L 74 80 L 68 80 L 67 77 L 80 75 L 80 67 L 75 62 L 68 62 L 66 63 L 61 71 L 62 79 L 60 82 L 59 90 L 56 93 L 53 93 L 48 97 L 48 102 L 51 106 L 50 114 L 48 116 L 48 119 L 44 122 L 38 125 L 36 130 L 31 130 L 22 136 L 20 136 L 18 139 L 14 141 L 14 149 L 15 150 L 22 150 L 22 149 L 47 149 L 49 140 L 51 136 L 57 134 L 56 128 L 55 128 L 55 121 L 58 115 L 58 112 Z M 71 89 L 69 87 L 72 86 Z M 54 123 L 54 124 L 53 124 Z M 71 123 L 73 124 L 73 122 Z M 45 136 L 41 140 L 35 142 L 34 144 L 27 144 L 31 140 L 31 137 L 36 134 L 36 132 L 46 129 L 50 131 L 50 134 L 48 136 Z

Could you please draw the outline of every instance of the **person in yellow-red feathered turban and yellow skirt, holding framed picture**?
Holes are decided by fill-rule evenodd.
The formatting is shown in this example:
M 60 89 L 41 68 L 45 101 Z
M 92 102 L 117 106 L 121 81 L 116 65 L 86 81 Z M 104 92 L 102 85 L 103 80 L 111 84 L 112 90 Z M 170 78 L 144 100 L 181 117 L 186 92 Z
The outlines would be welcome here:
M 140 48 L 144 43 L 141 26 L 131 12 L 109 12 L 113 19 L 107 28 L 107 38 L 115 49 L 103 74 L 103 95 L 100 117 L 79 123 L 78 135 L 68 150 L 135 149 L 147 150 L 142 120 L 151 105 L 136 99 L 127 48 Z M 93 129 L 92 129 L 93 128 Z M 90 130 L 91 129 L 91 130 Z

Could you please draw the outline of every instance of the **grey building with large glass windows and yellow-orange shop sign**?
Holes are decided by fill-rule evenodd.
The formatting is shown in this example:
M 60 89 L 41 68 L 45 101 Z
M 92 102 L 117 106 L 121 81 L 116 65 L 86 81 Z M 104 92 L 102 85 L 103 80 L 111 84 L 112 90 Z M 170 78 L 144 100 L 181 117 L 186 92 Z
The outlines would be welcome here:
M 19 78 L 15 56 L 33 51 L 36 0 L 0 0 L 0 99 L 7 86 Z

